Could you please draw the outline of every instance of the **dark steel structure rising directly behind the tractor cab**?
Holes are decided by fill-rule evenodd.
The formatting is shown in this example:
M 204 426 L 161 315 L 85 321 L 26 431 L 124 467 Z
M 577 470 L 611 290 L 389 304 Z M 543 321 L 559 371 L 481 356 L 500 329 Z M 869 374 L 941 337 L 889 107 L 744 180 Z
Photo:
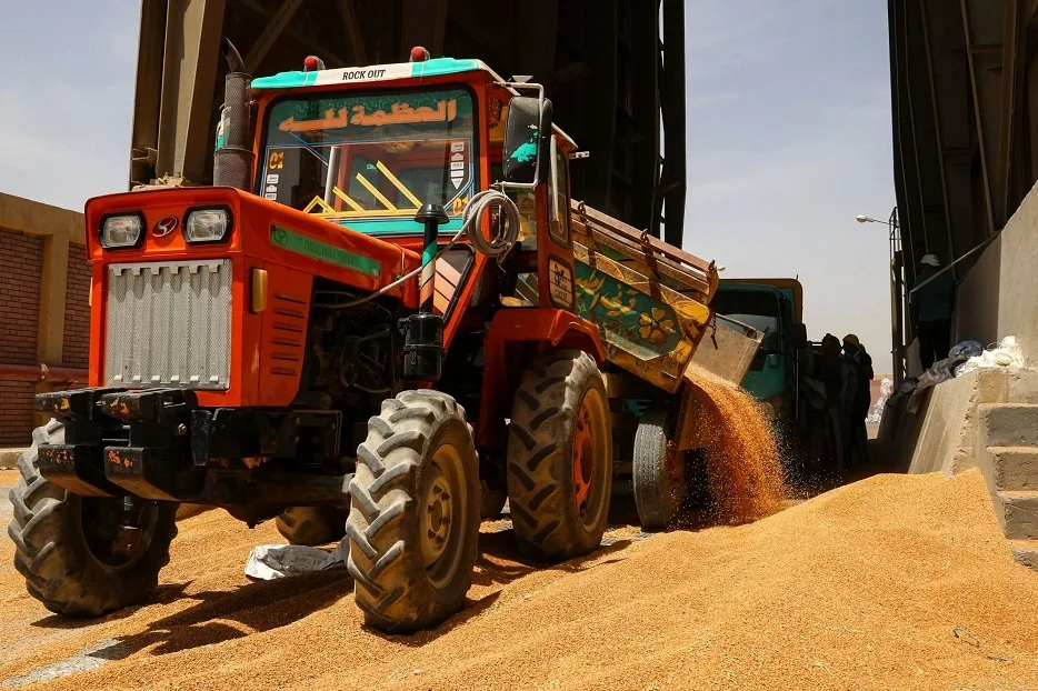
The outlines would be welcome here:
M 142 0 L 131 186 L 212 180 L 221 37 L 253 74 L 311 53 L 328 67 L 405 62 L 425 46 L 532 76 L 590 152 L 573 166 L 578 198 L 681 246 L 682 0 Z

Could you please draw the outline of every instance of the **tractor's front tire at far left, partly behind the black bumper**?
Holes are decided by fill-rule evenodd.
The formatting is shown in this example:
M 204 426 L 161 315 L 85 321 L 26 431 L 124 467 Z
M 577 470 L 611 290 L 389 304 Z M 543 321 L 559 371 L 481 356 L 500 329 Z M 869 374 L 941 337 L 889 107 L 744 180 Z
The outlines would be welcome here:
M 32 440 L 18 460 L 21 478 L 11 488 L 8 525 L 14 568 L 29 594 L 67 617 L 100 617 L 148 598 L 169 563 L 177 504 L 146 503 L 139 544 L 119 553 L 112 549 L 112 530 L 122 515 L 122 499 L 80 497 L 43 479 L 39 445 L 64 440 L 60 422 L 38 428 Z

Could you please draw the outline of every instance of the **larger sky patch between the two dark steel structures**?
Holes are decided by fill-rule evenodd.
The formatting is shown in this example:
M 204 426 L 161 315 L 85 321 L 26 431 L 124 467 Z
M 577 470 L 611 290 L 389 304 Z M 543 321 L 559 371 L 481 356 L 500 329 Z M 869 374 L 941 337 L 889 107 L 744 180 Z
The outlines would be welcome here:
M 722 278 L 798 277 L 811 340 L 890 371 L 895 206 L 886 3 L 688 0 L 685 249 Z

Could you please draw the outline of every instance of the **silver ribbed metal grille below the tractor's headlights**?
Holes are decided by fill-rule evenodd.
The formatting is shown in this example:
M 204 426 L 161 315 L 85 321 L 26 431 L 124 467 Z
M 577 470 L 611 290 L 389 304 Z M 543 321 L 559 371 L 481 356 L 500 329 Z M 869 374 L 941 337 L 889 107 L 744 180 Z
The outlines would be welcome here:
M 108 385 L 228 388 L 230 261 L 111 264 L 108 271 Z

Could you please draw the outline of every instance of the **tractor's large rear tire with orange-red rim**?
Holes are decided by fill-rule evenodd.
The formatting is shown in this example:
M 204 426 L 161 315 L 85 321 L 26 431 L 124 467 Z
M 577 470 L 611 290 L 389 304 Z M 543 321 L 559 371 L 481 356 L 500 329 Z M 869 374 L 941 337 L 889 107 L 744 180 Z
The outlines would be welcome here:
M 519 549 L 562 561 L 597 549 L 609 518 L 612 430 L 591 355 L 557 350 L 522 373 L 508 438 L 508 502 Z

